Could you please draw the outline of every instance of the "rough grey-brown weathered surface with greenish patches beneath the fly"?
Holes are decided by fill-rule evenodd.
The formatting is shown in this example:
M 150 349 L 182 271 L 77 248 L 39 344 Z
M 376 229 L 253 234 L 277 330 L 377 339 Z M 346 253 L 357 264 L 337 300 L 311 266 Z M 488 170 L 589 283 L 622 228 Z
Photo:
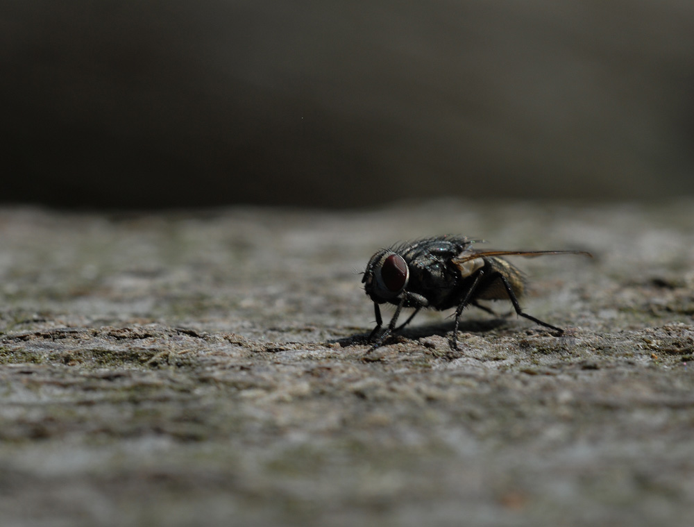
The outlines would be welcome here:
M 1 210 L 0 523 L 688 524 L 693 210 Z M 364 360 L 358 272 L 447 232 L 593 251 L 514 260 L 566 336 L 434 312 Z

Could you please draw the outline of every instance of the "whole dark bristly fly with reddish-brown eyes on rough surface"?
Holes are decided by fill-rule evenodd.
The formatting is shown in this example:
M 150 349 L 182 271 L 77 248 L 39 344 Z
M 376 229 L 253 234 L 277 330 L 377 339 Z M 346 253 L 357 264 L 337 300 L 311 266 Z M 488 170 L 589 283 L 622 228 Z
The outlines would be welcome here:
M 422 238 L 375 253 L 364 271 L 364 290 L 373 301 L 376 327 L 369 335 L 371 349 L 380 346 L 396 331 L 396 324 L 403 308 L 414 312 L 397 329 L 401 329 L 423 308 L 446 310 L 455 308 L 452 349 L 458 349 L 458 324 L 460 314 L 467 306 L 475 306 L 493 314 L 478 300 L 508 299 L 521 317 L 556 331 L 564 330 L 536 319 L 523 312 L 518 298 L 523 296 L 525 279 L 521 271 L 501 256 L 541 256 L 545 254 L 583 254 L 585 251 L 495 251 L 476 249 L 475 242 L 467 237 L 443 235 Z M 396 306 L 395 314 L 384 331 L 380 331 L 383 319 L 380 304 Z

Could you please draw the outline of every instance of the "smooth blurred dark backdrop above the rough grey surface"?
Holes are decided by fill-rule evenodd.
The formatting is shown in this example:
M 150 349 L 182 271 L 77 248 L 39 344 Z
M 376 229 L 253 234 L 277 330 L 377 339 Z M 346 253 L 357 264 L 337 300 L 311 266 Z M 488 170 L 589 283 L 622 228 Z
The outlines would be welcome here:
M 4 0 L 5 203 L 694 194 L 694 1 Z

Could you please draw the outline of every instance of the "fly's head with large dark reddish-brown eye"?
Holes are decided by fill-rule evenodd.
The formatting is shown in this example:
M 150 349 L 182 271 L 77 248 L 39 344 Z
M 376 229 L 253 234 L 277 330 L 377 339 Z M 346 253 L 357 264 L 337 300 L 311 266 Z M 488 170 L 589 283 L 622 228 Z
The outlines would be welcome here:
M 364 290 L 376 303 L 389 302 L 402 293 L 409 281 L 405 258 L 390 249 L 375 253 L 364 271 Z

